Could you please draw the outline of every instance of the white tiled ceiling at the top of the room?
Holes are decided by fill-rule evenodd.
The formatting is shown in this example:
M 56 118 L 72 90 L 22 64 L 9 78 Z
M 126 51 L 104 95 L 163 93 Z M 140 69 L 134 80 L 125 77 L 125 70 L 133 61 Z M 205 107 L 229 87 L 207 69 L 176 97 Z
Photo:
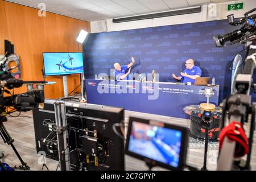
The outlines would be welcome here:
M 46 10 L 88 22 L 156 13 L 211 2 L 230 0 L 6 0 L 39 9 L 39 3 Z

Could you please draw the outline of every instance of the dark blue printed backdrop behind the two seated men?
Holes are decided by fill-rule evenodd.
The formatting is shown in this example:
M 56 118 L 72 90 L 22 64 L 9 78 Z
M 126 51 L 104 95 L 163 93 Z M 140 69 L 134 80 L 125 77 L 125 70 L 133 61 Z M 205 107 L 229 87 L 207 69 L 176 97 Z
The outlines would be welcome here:
M 193 59 L 203 76 L 216 79 L 220 85 L 220 101 L 230 94 L 230 63 L 243 45 L 234 44 L 217 48 L 213 35 L 226 34 L 238 26 L 228 25 L 227 20 L 177 24 L 136 30 L 89 34 L 83 44 L 86 78 L 107 73 L 115 62 L 125 65 L 131 56 L 136 64 L 132 73 L 159 73 L 159 81 L 175 82 L 172 73 L 179 75 L 185 68 L 185 60 Z M 243 57 L 245 51 L 240 53 Z

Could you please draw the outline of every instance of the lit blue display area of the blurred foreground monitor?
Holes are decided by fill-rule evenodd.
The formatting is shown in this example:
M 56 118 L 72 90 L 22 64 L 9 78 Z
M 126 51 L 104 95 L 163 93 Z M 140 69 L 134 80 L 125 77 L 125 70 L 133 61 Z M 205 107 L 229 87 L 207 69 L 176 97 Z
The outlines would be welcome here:
M 133 122 L 128 150 L 172 167 L 178 167 L 181 134 L 181 131 Z

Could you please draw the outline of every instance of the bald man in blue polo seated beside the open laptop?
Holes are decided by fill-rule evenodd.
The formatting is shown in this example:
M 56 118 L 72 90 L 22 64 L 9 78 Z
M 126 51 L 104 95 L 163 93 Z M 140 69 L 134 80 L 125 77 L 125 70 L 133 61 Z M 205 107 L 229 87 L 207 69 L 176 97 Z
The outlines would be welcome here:
M 196 78 L 200 77 L 202 75 L 202 71 L 200 67 L 197 67 L 194 63 L 194 60 L 188 59 L 185 63 L 186 68 L 183 72 L 180 73 L 180 76 L 176 76 L 174 73 L 172 73 L 172 76 L 176 80 L 181 80 L 183 83 L 194 84 L 196 81 Z

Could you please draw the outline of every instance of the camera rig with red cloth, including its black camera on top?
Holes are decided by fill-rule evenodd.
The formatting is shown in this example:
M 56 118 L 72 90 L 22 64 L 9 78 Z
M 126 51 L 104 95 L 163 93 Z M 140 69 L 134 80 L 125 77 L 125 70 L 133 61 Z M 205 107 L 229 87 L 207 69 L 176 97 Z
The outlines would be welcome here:
M 253 134 L 255 130 L 256 104 L 251 104 L 250 88 L 253 84 L 253 71 L 256 68 L 256 14 L 250 15 L 256 9 L 245 13 L 245 17 L 234 20 L 233 15 L 228 16 L 230 25 L 242 25 L 225 35 L 213 37 L 217 47 L 224 47 L 226 42 L 230 44 L 244 43 L 247 49 L 245 56 L 245 68 L 242 74 L 236 78 L 236 91 L 222 102 L 222 129 L 220 134 L 220 155 L 218 158 L 218 170 L 250 170 L 251 148 L 253 147 Z M 251 114 L 251 121 L 249 115 Z M 249 138 L 246 137 L 243 125 L 250 123 Z M 242 156 L 247 154 L 246 160 Z

